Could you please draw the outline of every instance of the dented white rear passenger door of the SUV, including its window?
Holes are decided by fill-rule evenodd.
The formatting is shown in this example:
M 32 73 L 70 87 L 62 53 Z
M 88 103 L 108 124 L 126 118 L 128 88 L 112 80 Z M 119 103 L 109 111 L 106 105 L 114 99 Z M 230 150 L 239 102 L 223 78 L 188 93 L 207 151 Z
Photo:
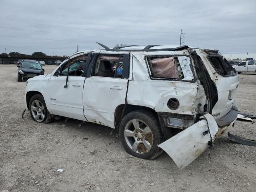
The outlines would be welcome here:
M 91 75 L 84 84 L 84 114 L 88 121 L 115 127 L 116 107 L 125 103 L 129 66 L 129 54 L 94 54 Z

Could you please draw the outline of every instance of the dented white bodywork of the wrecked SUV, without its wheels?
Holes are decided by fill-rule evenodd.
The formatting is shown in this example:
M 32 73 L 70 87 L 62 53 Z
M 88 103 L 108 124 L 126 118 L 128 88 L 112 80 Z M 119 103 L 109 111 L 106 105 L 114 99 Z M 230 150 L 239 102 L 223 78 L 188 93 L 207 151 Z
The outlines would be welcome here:
M 122 120 L 126 105 L 132 106 L 129 110 L 133 107 L 150 109 L 158 116 L 166 140 L 159 147 L 172 157 L 179 168 L 184 168 L 209 147 L 210 135 L 214 141 L 215 137 L 226 134 L 234 126 L 238 111 L 236 95 L 239 77 L 235 72 L 221 74 L 210 61 L 206 50 L 187 46 L 176 50 L 172 46 L 152 47 L 130 46 L 120 50 L 75 53 L 69 57 L 70 60 L 88 56 L 83 75 L 68 76 L 67 87 L 63 88 L 66 76 L 56 73 L 67 64 L 69 60 L 66 59 L 52 74 L 29 79 L 26 106 L 29 108 L 29 96 L 38 92 L 44 96 L 52 115 L 111 128 L 118 128 L 116 117 L 120 118 L 118 122 Z M 93 70 L 99 54 L 126 56 L 128 60 L 125 62 L 123 59 L 122 64 L 129 64 L 126 68 L 128 76 L 96 76 Z M 154 74 L 151 58 L 155 61 L 166 57 L 172 58 L 175 78 Z M 216 57 L 223 58 L 217 53 Z M 103 72 L 109 70 L 105 68 Z M 204 135 L 208 129 L 210 132 Z

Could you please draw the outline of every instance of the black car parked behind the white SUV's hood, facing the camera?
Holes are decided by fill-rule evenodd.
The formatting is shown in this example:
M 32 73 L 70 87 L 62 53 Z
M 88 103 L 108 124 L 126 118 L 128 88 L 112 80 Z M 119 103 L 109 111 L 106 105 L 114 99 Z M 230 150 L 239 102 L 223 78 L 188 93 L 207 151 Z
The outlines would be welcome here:
M 18 67 L 18 81 L 27 80 L 29 78 L 33 78 L 37 75 L 43 75 L 44 69 L 42 68 L 41 64 L 35 60 L 28 60 L 25 59 L 21 62 Z

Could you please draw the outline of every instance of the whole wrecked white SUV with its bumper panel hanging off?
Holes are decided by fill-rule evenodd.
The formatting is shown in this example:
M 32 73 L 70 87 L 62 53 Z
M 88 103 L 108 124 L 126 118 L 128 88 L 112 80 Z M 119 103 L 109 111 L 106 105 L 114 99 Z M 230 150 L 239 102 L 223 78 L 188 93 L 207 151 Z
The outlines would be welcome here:
M 118 128 L 128 153 L 153 159 L 164 150 L 180 169 L 234 126 L 239 78 L 218 50 L 100 45 L 27 81 L 33 120 L 64 116 Z

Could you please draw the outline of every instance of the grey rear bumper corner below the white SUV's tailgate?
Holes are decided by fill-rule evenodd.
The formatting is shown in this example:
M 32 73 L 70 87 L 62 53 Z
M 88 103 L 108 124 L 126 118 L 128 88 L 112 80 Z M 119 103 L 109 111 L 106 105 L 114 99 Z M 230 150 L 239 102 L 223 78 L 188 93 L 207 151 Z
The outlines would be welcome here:
M 234 127 L 234 122 L 236 121 L 238 115 L 237 107 L 233 106 L 230 112 L 228 112 L 222 118 L 216 120 L 219 130 L 215 137 L 222 136 L 229 132 L 230 128 Z

